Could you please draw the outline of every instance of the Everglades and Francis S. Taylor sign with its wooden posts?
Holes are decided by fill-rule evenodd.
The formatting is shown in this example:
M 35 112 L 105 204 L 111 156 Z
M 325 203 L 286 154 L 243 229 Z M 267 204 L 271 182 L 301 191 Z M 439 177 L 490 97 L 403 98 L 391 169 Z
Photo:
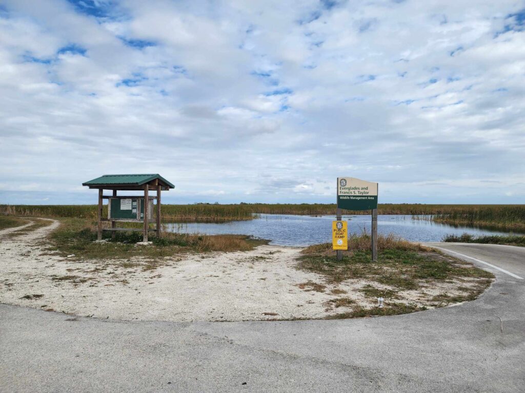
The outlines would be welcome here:
M 356 178 L 337 178 L 337 219 L 341 210 L 372 211 L 372 260 L 377 260 L 377 189 L 378 184 Z M 336 248 L 334 248 L 336 249 Z M 340 256 L 341 253 L 341 256 Z M 342 252 L 337 250 L 337 259 Z

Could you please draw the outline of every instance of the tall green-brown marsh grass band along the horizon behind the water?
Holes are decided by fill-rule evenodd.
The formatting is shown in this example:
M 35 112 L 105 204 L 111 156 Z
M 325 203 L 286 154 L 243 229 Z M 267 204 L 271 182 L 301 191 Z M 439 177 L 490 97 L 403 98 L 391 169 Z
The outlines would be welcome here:
M 439 205 L 380 203 L 378 214 L 408 214 L 420 219 L 452 225 L 488 227 L 525 232 L 525 205 Z M 162 205 L 162 220 L 174 222 L 226 222 L 251 220 L 260 214 L 335 214 L 335 204 L 322 203 L 240 203 Z M 33 217 L 79 217 L 96 220 L 96 205 L 0 205 L 0 214 Z M 369 211 L 343 211 L 343 214 L 370 214 Z M 103 207 L 107 216 L 107 205 Z M 418 218 L 418 217 L 414 217 Z

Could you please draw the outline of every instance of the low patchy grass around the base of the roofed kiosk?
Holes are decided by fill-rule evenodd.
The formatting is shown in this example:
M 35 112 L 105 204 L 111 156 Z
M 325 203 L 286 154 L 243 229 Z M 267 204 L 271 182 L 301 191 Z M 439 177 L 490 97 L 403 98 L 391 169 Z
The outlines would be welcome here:
M 266 241 L 245 235 L 187 235 L 164 233 L 162 237 L 150 236 L 152 246 L 137 246 L 142 241 L 140 232 L 117 232 L 114 239 L 103 232 L 105 242 L 95 242 L 95 223 L 83 219 L 60 219 L 61 225 L 50 234 L 50 250 L 62 256 L 74 254 L 75 258 L 107 259 L 145 257 L 158 259 L 183 253 L 248 251 L 266 244 Z M 152 267 L 154 268 L 154 267 Z

